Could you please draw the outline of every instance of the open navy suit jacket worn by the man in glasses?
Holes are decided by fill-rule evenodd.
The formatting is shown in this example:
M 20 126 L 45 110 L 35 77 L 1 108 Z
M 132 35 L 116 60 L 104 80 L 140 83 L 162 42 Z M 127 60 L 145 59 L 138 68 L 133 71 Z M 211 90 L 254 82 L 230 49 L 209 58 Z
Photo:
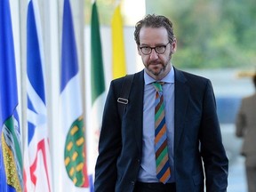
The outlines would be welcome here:
M 224 192 L 228 187 L 228 157 L 210 80 L 174 68 L 174 170 L 177 192 Z M 136 73 L 124 116 L 117 98 L 124 77 L 113 80 L 108 91 L 95 192 L 132 192 L 140 170 L 143 126 L 143 71 Z M 168 118 L 168 117 L 167 117 Z M 205 178 L 205 180 L 204 180 Z

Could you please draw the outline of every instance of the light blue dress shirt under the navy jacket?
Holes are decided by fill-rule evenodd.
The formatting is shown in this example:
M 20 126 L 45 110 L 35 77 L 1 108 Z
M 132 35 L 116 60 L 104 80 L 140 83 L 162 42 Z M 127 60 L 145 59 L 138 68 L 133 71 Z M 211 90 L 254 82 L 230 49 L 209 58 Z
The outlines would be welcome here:
M 142 135 L 142 157 L 138 180 L 141 182 L 159 182 L 156 178 L 156 157 L 155 157 L 155 97 L 156 89 L 153 82 L 156 82 L 151 76 L 148 76 L 144 70 L 144 103 L 143 103 L 143 135 Z M 165 123 L 167 126 L 168 155 L 171 165 L 171 179 L 168 182 L 175 181 L 173 162 L 174 146 L 174 69 L 165 76 L 161 82 L 164 82 L 164 110 Z

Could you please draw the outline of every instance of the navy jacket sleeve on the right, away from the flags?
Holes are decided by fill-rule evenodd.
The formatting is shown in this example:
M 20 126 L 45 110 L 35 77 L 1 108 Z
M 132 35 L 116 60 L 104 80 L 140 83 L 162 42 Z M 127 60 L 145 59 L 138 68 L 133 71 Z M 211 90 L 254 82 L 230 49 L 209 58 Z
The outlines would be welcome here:
M 225 192 L 228 187 L 228 157 L 222 144 L 212 84 L 208 80 L 204 91 L 201 122 L 201 153 L 204 162 L 207 192 Z

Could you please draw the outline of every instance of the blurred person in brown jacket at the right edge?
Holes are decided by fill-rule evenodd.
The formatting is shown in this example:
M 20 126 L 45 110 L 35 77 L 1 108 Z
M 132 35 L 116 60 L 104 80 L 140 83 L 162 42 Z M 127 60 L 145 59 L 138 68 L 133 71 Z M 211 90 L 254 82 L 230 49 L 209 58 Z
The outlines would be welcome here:
M 256 88 L 256 74 L 252 77 Z M 244 137 L 242 155 L 245 156 L 245 170 L 249 192 L 256 191 L 256 92 L 243 98 L 236 116 L 236 136 Z

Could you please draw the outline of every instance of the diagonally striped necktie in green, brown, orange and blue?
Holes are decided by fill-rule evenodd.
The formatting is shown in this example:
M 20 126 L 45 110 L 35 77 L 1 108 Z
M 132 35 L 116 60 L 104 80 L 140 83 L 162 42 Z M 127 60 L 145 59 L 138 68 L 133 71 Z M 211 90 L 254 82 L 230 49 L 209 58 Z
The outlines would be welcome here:
M 171 177 L 171 169 L 169 164 L 167 149 L 167 134 L 164 115 L 164 96 L 162 84 L 153 83 L 156 89 L 155 102 L 155 152 L 156 152 L 156 177 L 166 183 Z

